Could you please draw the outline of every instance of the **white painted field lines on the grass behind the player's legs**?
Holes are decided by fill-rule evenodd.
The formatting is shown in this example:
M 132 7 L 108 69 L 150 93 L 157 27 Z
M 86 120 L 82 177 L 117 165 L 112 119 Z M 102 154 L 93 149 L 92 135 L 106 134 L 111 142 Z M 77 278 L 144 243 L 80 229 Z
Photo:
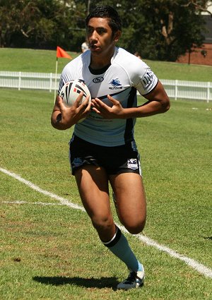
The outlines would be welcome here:
M 83 207 L 81 207 L 80 205 L 71 203 L 71 202 L 69 202 L 69 200 L 66 200 L 65 198 L 57 196 L 54 193 L 49 193 L 49 191 L 43 190 L 39 186 L 36 186 L 32 182 L 23 179 L 22 177 L 20 177 L 19 175 L 15 174 L 13 172 L 9 172 L 6 169 L 2 169 L 1 167 L 0 167 L 0 171 L 3 172 L 4 174 L 7 174 L 8 176 L 13 177 L 14 179 L 17 179 L 18 181 L 22 182 L 23 184 L 29 186 L 30 188 L 33 188 L 33 190 L 35 190 L 35 191 L 38 191 L 46 196 L 49 196 L 50 198 L 59 200 L 60 205 L 67 205 L 70 208 L 85 211 L 85 209 Z M 14 203 L 14 202 L 4 201 L 4 203 Z M 25 201 L 16 201 L 16 203 L 22 204 L 22 203 L 26 203 L 26 202 Z M 35 204 L 35 203 L 30 203 L 30 204 Z M 42 204 L 42 205 L 55 205 L 56 204 L 57 205 L 57 203 L 39 203 L 39 202 L 36 204 Z M 129 232 L 123 226 L 120 226 L 119 224 L 118 224 L 118 226 L 120 229 L 122 229 L 123 232 L 129 234 Z M 192 258 L 188 258 L 187 256 L 183 256 L 182 254 L 179 254 L 176 251 L 174 251 L 166 246 L 160 245 L 156 241 L 153 241 L 153 239 L 150 239 L 147 236 L 143 236 L 143 234 L 136 234 L 135 236 L 137 239 L 139 239 L 140 241 L 143 241 L 143 243 L 147 244 L 148 246 L 153 246 L 154 248 L 157 248 L 159 251 L 163 251 L 163 252 L 167 253 L 169 256 L 172 256 L 174 258 L 182 260 L 182 261 L 184 261 L 184 263 L 186 263 L 187 265 L 189 265 L 191 268 L 195 269 L 199 273 L 203 274 L 206 277 L 212 278 L 212 270 L 210 268 L 207 268 L 205 265 L 198 263 L 196 260 L 194 260 Z

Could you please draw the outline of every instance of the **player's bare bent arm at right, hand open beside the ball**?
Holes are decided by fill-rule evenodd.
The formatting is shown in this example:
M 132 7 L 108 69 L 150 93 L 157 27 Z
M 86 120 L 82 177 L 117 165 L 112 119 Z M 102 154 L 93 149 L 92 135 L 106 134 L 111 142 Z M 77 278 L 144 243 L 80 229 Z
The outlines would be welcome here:
M 108 107 L 102 101 L 98 100 L 98 98 L 92 100 L 93 110 L 105 119 L 129 119 L 152 116 L 153 114 L 167 112 L 170 108 L 169 97 L 160 81 L 158 81 L 158 84 L 152 92 L 143 96 L 148 102 L 139 107 L 123 108 L 119 101 L 110 95 L 107 97 L 112 102 L 112 107 Z

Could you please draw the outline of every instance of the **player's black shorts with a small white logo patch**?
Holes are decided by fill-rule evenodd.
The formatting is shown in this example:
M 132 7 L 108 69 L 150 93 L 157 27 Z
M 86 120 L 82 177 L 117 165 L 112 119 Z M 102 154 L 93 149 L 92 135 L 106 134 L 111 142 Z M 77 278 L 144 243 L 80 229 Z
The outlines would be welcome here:
M 116 147 L 105 147 L 73 136 L 69 145 L 69 160 L 73 175 L 76 169 L 86 164 L 104 167 L 108 175 L 121 173 L 141 175 L 140 155 L 135 142 Z

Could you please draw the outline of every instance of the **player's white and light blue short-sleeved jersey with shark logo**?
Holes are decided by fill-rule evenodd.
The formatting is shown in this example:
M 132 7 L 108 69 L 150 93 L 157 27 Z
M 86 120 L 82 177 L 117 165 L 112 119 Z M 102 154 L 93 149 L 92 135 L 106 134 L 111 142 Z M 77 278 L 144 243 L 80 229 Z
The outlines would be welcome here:
M 137 106 L 136 90 L 146 95 L 158 83 L 158 78 L 141 59 L 122 48 L 115 48 L 111 64 L 105 70 L 91 71 L 89 65 L 90 50 L 70 61 L 61 73 L 59 91 L 69 80 L 82 79 L 93 99 L 98 97 L 111 107 L 107 99 L 111 95 L 127 108 Z M 134 140 L 135 123 L 136 118 L 103 119 L 91 110 L 84 121 L 75 125 L 74 134 L 90 143 L 113 147 Z

